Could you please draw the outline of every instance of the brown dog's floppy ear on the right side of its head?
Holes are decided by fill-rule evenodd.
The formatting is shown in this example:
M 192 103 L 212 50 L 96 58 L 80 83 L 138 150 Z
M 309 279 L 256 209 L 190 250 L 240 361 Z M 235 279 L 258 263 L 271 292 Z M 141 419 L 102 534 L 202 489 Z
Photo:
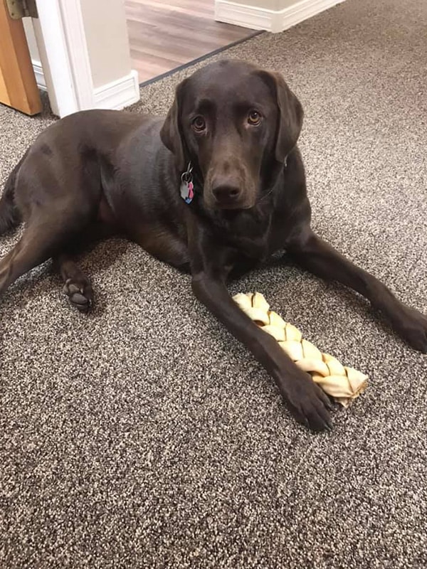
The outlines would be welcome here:
M 266 83 L 273 90 L 277 100 L 279 117 L 276 132 L 275 159 L 278 162 L 285 162 L 286 156 L 290 153 L 302 129 L 302 118 L 304 112 L 302 105 L 297 97 L 286 85 L 280 73 L 274 71 L 260 71 Z

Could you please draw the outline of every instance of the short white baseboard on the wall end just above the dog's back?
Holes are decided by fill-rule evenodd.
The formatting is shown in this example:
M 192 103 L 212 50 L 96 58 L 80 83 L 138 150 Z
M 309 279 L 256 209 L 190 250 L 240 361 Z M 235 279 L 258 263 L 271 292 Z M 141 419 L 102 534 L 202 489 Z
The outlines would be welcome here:
M 138 73 L 134 69 L 125 77 L 93 90 L 95 109 L 121 110 L 139 101 Z

